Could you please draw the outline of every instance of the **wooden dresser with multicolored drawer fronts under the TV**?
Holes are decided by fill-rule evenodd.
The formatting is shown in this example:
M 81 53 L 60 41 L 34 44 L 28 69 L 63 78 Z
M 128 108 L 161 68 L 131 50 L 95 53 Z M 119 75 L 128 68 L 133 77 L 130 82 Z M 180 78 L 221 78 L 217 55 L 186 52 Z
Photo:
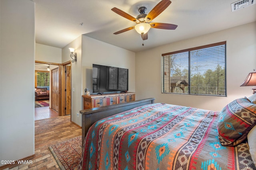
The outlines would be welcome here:
M 135 100 L 134 92 L 127 93 L 108 93 L 108 94 L 92 94 L 82 95 L 84 98 L 84 109 L 91 109 L 94 107 L 108 106 L 112 104 L 119 104 L 131 102 Z

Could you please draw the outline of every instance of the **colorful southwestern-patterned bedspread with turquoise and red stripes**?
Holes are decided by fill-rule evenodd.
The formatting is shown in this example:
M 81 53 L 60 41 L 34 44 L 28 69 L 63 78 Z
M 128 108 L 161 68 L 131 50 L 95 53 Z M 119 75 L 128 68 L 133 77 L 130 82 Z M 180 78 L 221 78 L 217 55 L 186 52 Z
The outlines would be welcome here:
M 94 123 L 86 135 L 84 170 L 253 170 L 248 143 L 223 147 L 218 112 L 151 104 Z

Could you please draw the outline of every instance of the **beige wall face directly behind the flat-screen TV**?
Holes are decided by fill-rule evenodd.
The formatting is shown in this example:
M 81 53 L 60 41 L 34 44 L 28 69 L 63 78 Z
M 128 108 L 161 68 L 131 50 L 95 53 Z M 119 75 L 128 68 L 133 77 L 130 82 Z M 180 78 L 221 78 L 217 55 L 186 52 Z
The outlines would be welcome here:
M 92 92 L 92 64 L 128 68 L 128 91 L 135 92 L 135 53 L 82 35 L 82 88 Z

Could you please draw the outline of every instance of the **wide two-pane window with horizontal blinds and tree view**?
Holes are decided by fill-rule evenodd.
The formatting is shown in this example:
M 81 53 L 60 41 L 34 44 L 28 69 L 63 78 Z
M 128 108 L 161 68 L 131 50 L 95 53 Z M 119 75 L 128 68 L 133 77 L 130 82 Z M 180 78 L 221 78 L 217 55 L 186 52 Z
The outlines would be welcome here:
M 226 96 L 226 41 L 162 54 L 162 93 Z

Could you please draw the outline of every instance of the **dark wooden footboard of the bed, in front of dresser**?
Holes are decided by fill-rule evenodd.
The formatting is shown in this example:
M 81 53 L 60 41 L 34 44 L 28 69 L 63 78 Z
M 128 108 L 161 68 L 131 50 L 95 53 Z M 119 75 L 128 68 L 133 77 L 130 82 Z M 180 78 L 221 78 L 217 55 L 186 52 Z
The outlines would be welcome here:
M 135 107 L 143 106 L 146 104 L 153 104 L 154 100 L 155 98 L 148 98 L 136 100 L 133 102 L 80 110 L 80 113 L 82 114 L 82 146 L 84 145 L 84 138 L 86 136 L 86 133 L 94 122 L 105 117 L 109 117 L 117 113 L 133 109 Z

